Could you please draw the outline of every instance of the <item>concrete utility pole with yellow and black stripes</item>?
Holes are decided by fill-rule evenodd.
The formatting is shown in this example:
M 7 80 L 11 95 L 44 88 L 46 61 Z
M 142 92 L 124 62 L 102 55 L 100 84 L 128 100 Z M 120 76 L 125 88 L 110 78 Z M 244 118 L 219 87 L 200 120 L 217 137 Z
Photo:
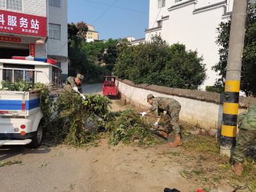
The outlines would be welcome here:
M 228 47 L 227 74 L 223 101 L 220 154 L 230 156 L 236 145 L 237 115 L 248 0 L 234 0 Z

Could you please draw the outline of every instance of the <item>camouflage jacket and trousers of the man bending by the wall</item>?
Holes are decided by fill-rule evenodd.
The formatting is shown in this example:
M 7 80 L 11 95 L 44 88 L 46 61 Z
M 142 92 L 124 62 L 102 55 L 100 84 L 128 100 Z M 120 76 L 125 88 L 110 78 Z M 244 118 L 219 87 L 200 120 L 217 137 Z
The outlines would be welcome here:
M 157 109 L 158 115 L 163 118 L 164 111 L 167 111 L 164 116 L 164 129 L 168 132 L 168 127 L 170 124 L 173 127 L 173 131 L 175 134 L 180 133 L 179 126 L 179 113 L 180 113 L 180 104 L 175 99 L 167 98 L 167 97 L 154 97 L 152 98 L 152 106 L 150 108 L 151 111 L 155 111 Z

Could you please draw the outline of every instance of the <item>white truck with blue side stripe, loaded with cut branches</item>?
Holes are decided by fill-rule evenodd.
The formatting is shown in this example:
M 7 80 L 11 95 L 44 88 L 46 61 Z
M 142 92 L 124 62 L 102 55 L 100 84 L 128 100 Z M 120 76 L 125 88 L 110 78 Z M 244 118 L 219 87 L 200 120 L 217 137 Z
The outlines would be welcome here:
M 42 61 L 0 60 L 0 82 L 49 84 L 61 88 L 61 68 Z M 0 85 L 1 86 L 1 85 Z M 38 92 L 0 90 L 0 146 L 29 145 L 42 142 L 44 116 Z

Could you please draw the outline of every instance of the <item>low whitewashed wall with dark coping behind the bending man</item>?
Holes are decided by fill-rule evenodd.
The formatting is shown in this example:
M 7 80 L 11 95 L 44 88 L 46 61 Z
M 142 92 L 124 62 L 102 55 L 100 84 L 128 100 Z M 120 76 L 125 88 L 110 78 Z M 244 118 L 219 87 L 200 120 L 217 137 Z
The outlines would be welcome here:
M 147 95 L 155 97 L 170 97 L 180 102 L 180 120 L 202 129 L 217 129 L 221 127 L 222 104 L 220 93 L 183 90 L 163 86 L 134 84 L 127 80 L 116 80 L 118 90 L 131 104 L 140 108 L 148 107 Z M 239 113 L 243 112 L 249 103 L 256 104 L 256 98 L 240 97 Z

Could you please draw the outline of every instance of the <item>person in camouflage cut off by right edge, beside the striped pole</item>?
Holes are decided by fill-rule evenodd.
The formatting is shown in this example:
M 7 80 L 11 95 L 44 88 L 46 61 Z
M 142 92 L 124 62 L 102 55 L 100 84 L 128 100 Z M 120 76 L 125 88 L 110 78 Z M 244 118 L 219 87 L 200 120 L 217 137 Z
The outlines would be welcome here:
M 247 111 L 241 113 L 237 118 L 239 133 L 236 138 L 236 147 L 232 159 L 232 172 L 236 175 L 242 175 L 243 162 L 246 150 L 250 145 L 256 145 L 256 105 L 251 104 Z

